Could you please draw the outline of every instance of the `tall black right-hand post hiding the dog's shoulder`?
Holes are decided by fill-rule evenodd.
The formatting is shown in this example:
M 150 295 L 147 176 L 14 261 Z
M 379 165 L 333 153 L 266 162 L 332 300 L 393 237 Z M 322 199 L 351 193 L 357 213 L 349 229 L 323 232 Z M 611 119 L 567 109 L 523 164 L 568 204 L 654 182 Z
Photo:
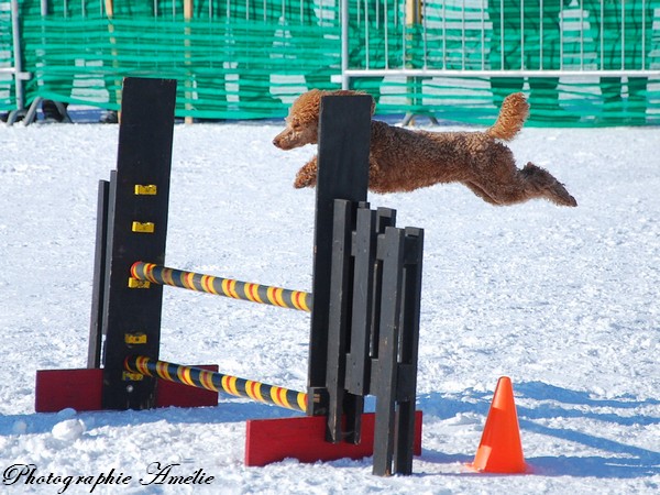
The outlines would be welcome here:
M 310 416 L 328 413 L 326 373 L 334 199 L 366 200 L 372 97 L 321 98 L 309 340 Z

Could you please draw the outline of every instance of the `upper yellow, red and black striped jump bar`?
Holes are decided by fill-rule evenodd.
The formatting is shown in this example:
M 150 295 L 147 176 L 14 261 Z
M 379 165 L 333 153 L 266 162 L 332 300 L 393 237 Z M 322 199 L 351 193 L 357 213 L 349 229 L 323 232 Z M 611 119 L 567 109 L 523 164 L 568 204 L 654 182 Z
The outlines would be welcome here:
M 217 296 L 250 300 L 280 308 L 311 311 L 312 297 L 309 293 L 290 290 L 267 285 L 251 284 L 231 278 L 215 277 L 200 273 L 167 268 L 153 263 L 135 262 L 131 266 L 132 279 L 198 290 Z M 129 284 L 131 285 L 131 284 Z

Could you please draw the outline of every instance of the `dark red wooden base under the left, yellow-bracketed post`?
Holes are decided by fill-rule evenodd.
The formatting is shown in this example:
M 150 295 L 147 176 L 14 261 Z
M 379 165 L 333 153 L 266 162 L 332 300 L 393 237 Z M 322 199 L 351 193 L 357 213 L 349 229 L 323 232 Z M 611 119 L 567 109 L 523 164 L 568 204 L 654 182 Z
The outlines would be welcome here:
M 218 371 L 217 365 L 197 366 Z M 102 410 L 102 369 L 38 370 L 34 410 L 57 413 L 72 408 L 77 411 Z M 218 393 L 195 388 L 158 378 L 156 407 L 205 407 L 217 406 Z

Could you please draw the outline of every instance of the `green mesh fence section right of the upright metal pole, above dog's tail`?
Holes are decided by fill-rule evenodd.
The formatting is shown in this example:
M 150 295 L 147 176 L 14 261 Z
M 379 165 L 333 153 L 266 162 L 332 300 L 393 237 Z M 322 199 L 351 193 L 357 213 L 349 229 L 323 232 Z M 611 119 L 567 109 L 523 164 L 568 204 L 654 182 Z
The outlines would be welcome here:
M 384 2 L 350 2 L 359 26 L 349 72 L 360 77 L 354 86 L 380 98 L 380 112 L 487 123 L 506 95 L 524 90 L 537 125 L 660 123 L 657 0 L 544 1 L 542 11 L 538 0 L 427 1 L 419 16 L 410 3 L 399 2 L 383 24 Z M 425 69 L 427 77 L 367 77 L 385 68 Z M 641 69 L 654 74 L 627 76 Z M 541 74 L 549 70 L 561 77 Z

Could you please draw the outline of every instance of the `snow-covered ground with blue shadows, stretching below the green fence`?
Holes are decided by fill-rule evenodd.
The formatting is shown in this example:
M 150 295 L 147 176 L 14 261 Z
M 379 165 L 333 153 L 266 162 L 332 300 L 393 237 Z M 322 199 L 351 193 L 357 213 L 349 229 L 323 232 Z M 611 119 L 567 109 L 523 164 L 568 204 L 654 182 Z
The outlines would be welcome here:
M 275 148 L 279 129 L 177 124 L 167 265 L 310 290 L 315 197 L 292 182 L 314 150 Z M 371 459 L 245 468 L 245 420 L 292 413 L 224 395 L 217 408 L 34 413 L 36 370 L 86 364 L 97 183 L 117 140 L 117 125 L 0 125 L 0 474 L 45 476 L 1 493 L 90 493 L 85 476 L 111 470 L 95 494 L 660 492 L 659 129 L 524 130 L 519 165 L 550 169 L 574 209 L 494 208 L 459 185 L 370 196 L 426 233 L 424 450 L 414 475 L 388 479 Z M 165 289 L 164 360 L 304 389 L 308 331 L 298 311 Z M 503 375 L 530 474 L 465 466 Z M 142 485 L 154 463 L 213 480 Z

